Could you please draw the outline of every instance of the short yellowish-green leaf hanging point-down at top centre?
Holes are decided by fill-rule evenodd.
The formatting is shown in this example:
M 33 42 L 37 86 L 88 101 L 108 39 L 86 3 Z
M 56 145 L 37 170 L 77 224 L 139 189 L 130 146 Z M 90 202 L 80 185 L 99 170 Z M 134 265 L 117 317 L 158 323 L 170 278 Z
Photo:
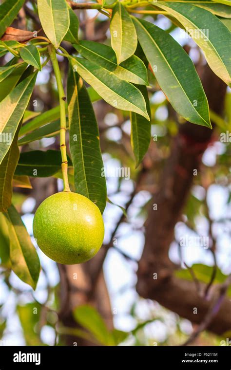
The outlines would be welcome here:
M 137 36 L 135 27 L 127 10 L 117 2 L 112 11 L 110 23 L 111 44 L 120 64 L 135 53 Z

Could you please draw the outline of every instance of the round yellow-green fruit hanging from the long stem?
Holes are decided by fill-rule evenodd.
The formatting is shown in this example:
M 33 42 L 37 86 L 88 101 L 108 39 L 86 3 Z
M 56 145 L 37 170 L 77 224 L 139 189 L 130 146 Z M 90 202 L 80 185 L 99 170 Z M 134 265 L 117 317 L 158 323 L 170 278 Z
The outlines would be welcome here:
M 104 223 L 96 204 L 83 195 L 62 191 L 39 205 L 33 231 L 50 259 L 76 264 L 96 255 L 103 243 Z

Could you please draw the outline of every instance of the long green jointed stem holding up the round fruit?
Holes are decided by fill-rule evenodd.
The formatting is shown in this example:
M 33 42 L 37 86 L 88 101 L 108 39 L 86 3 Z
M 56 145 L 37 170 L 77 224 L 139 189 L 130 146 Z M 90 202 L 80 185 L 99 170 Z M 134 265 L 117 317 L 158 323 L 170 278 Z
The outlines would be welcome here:
M 67 160 L 67 147 L 66 147 L 66 96 L 62 86 L 62 78 L 56 57 L 56 49 L 53 45 L 48 46 L 49 55 L 53 64 L 54 73 L 56 76 L 59 106 L 60 106 L 60 151 L 62 157 L 62 178 L 63 178 L 63 191 L 71 191 L 68 182 L 68 160 Z

